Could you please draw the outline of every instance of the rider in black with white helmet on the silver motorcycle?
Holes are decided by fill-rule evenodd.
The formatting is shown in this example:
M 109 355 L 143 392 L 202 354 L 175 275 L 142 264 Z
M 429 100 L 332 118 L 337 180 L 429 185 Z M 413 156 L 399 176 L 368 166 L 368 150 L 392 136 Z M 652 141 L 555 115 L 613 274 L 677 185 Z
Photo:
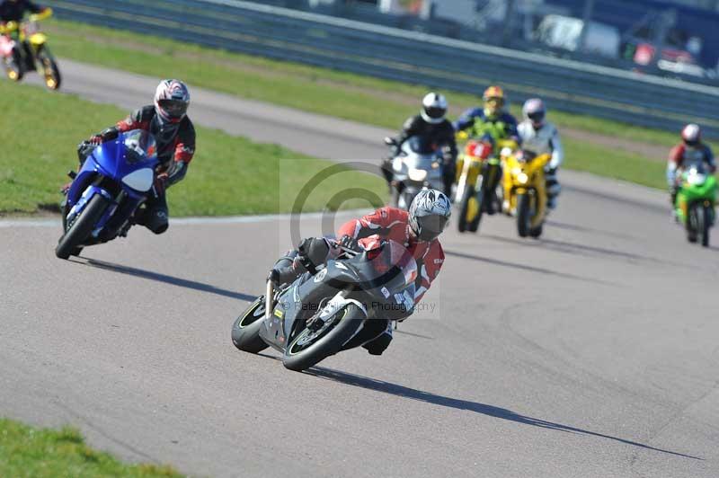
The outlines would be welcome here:
M 422 99 L 422 111 L 420 114 L 404 121 L 404 126 L 398 137 L 395 137 L 392 157 L 386 158 L 381 165 L 382 173 L 387 183 L 392 181 L 392 159 L 399 153 L 404 141 L 413 136 L 422 137 L 428 144 L 442 147 L 443 168 L 442 176 L 444 181 L 445 194 L 450 193 L 452 182 L 455 177 L 455 164 L 457 163 L 457 141 L 455 140 L 452 123 L 445 118 L 447 115 L 448 103 L 443 94 L 428 93 Z

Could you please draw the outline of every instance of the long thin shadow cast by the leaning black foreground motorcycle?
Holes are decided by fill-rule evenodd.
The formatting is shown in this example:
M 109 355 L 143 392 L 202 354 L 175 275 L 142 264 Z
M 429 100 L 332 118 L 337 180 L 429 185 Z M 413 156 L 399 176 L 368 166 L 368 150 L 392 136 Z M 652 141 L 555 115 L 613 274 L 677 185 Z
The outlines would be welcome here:
M 431 394 L 429 392 L 422 392 L 422 390 L 417 390 L 408 386 L 396 385 L 390 382 L 385 382 L 383 380 L 369 378 L 367 376 L 349 374 L 346 372 L 333 370 L 332 368 L 312 367 L 309 370 L 306 370 L 304 373 L 306 373 L 307 375 L 324 378 L 326 380 L 332 380 L 333 382 L 339 382 L 345 385 L 359 386 L 361 388 L 374 390 L 383 394 L 391 394 L 399 397 L 417 400 L 420 402 L 432 403 L 443 407 L 454 408 L 457 410 L 466 410 L 469 412 L 481 413 L 483 415 L 498 418 L 501 420 L 515 421 L 517 423 L 531 425 L 533 427 L 540 427 L 543 429 L 555 429 L 568 433 L 578 433 L 581 435 L 589 435 L 592 437 L 608 438 L 610 440 L 626 443 L 626 445 L 631 445 L 633 447 L 641 447 L 647 450 L 658 451 L 669 455 L 683 456 L 685 458 L 691 458 L 693 460 L 704 461 L 704 458 L 700 458 L 697 456 L 685 455 L 683 453 L 675 451 L 650 447 L 649 445 L 644 445 L 643 443 L 638 443 L 636 441 L 628 440 L 625 438 L 612 437 L 611 435 L 604 435 L 602 433 L 597 433 L 596 431 L 590 431 L 588 429 L 579 429 L 576 427 L 570 427 L 568 425 L 562 425 L 561 423 L 555 423 L 554 421 L 541 420 L 528 417 L 526 415 L 520 415 L 519 413 L 512 412 L 511 410 L 507 410 L 506 408 L 495 407 L 493 405 L 487 405 L 485 403 L 477 403 L 470 402 L 468 400 L 450 398 L 443 395 Z

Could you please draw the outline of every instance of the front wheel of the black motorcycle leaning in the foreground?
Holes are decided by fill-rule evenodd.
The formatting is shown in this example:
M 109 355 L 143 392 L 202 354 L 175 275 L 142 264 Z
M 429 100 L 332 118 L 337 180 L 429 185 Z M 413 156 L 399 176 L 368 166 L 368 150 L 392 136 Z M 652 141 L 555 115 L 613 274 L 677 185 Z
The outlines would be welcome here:
M 310 338 L 314 332 L 308 328 L 298 332 L 288 343 L 285 355 L 282 357 L 282 365 L 289 370 L 301 372 L 339 352 L 342 346 L 359 331 L 365 320 L 365 314 L 357 305 L 348 304 L 337 311 L 332 320 L 333 323 L 328 329 L 315 338 Z M 307 339 L 309 343 L 303 343 Z

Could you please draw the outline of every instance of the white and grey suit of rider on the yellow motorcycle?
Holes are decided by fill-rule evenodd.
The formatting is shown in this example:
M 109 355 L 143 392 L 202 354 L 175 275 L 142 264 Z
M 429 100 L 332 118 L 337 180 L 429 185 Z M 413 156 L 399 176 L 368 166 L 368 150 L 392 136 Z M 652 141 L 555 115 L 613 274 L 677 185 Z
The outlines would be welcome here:
M 545 121 L 541 127 L 535 128 L 532 121 L 525 120 L 517 128 L 523 149 L 533 151 L 537 155 L 549 153 L 552 159 L 546 164 L 546 196 L 550 209 L 556 207 L 556 197 L 562 190 L 557 180 L 557 170 L 564 162 L 564 148 L 559 139 L 559 131 L 554 124 Z

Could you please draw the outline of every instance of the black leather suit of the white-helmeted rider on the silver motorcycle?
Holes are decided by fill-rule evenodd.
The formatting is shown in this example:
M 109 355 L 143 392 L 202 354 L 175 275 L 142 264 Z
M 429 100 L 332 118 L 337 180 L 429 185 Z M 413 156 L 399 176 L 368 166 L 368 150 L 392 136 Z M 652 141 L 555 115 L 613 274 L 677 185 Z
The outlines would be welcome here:
M 387 182 L 392 181 L 392 167 L 390 161 L 398 154 L 400 148 L 408 138 L 418 136 L 429 144 L 443 148 L 442 179 L 444 192 L 449 196 L 452 182 L 455 178 L 455 167 L 457 165 L 457 141 L 455 130 L 449 120 L 442 120 L 439 123 L 430 123 L 422 118 L 422 115 L 413 116 L 404 121 L 404 126 L 398 137 L 395 137 L 396 146 L 392 152 L 393 156 L 387 158 L 382 164 L 382 173 Z

